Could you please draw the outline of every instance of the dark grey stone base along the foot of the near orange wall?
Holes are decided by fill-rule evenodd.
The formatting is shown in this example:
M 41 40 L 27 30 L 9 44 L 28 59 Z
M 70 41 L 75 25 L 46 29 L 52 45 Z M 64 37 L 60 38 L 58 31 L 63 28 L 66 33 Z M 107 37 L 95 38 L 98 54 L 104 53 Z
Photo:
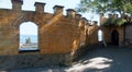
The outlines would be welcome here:
M 0 70 L 68 64 L 69 53 L 42 55 L 38 52 L 0 56 Z

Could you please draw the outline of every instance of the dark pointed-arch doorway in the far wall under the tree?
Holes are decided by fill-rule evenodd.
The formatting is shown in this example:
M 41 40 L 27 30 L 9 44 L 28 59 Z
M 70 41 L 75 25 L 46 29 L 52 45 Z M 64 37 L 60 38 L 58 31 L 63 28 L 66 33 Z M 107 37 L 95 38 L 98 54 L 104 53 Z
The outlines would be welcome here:
M 112 35 L 111 35 L 111 43 L 112 45 L 116 45 L 116 46 L 119 45 L 119 33 L 116 29 L 112 32 Z

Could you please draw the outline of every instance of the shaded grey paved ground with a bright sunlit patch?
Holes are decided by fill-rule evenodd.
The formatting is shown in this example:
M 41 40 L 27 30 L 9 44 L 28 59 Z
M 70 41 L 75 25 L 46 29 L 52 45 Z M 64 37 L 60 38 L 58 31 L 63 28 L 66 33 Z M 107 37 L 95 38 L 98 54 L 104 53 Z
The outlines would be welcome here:
M 33 68 L 1 72 L 132 72 L 132 48 L 96 48 L 86 55 L 67 68 Z

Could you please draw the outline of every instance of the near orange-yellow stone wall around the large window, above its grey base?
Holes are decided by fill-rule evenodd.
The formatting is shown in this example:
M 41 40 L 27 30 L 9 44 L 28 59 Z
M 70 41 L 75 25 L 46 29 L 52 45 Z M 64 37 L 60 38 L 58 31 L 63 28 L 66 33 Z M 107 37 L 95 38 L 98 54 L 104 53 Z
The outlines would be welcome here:
M 85 36 L 85 28 L 79 28 L 79 25 L 85 26 L 84 21 L 78 16 L 63 15 L 62 7 L 55 7 L 58 12 L 51 14 L 42 12 L 43 3 L 35 3 L 35 12 L 20 10 L 22 3 L 13 4 L 19 8 L 0 9 L 0 55 L 19 55 L 20 24 L 28 21 L 38 26 L 40 53 L 67 53 L 79 48 L 81 39 L 85 43 L 85 37 L 80 38 Z

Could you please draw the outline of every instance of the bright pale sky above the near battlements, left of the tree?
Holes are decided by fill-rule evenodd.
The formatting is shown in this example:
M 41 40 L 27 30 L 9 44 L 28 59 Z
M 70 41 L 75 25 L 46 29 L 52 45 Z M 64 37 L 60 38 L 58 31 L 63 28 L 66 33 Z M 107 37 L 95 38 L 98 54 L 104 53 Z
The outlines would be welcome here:
M 44 2 L 46 3 L 45 5 L 45 11 L 53 13 L 53 7 L 58 4 L 58 5 L 64 5 L 65 9 L 74 9 L 77 7 L 80 0 L 23 0 L 23 7 L 22 10 L 28 10 L 28 11 L 34 11 L 34 2 Z M 11 9 L 11 1 L 10 0 L 0 0 L 0 8 L 7 8 Z

